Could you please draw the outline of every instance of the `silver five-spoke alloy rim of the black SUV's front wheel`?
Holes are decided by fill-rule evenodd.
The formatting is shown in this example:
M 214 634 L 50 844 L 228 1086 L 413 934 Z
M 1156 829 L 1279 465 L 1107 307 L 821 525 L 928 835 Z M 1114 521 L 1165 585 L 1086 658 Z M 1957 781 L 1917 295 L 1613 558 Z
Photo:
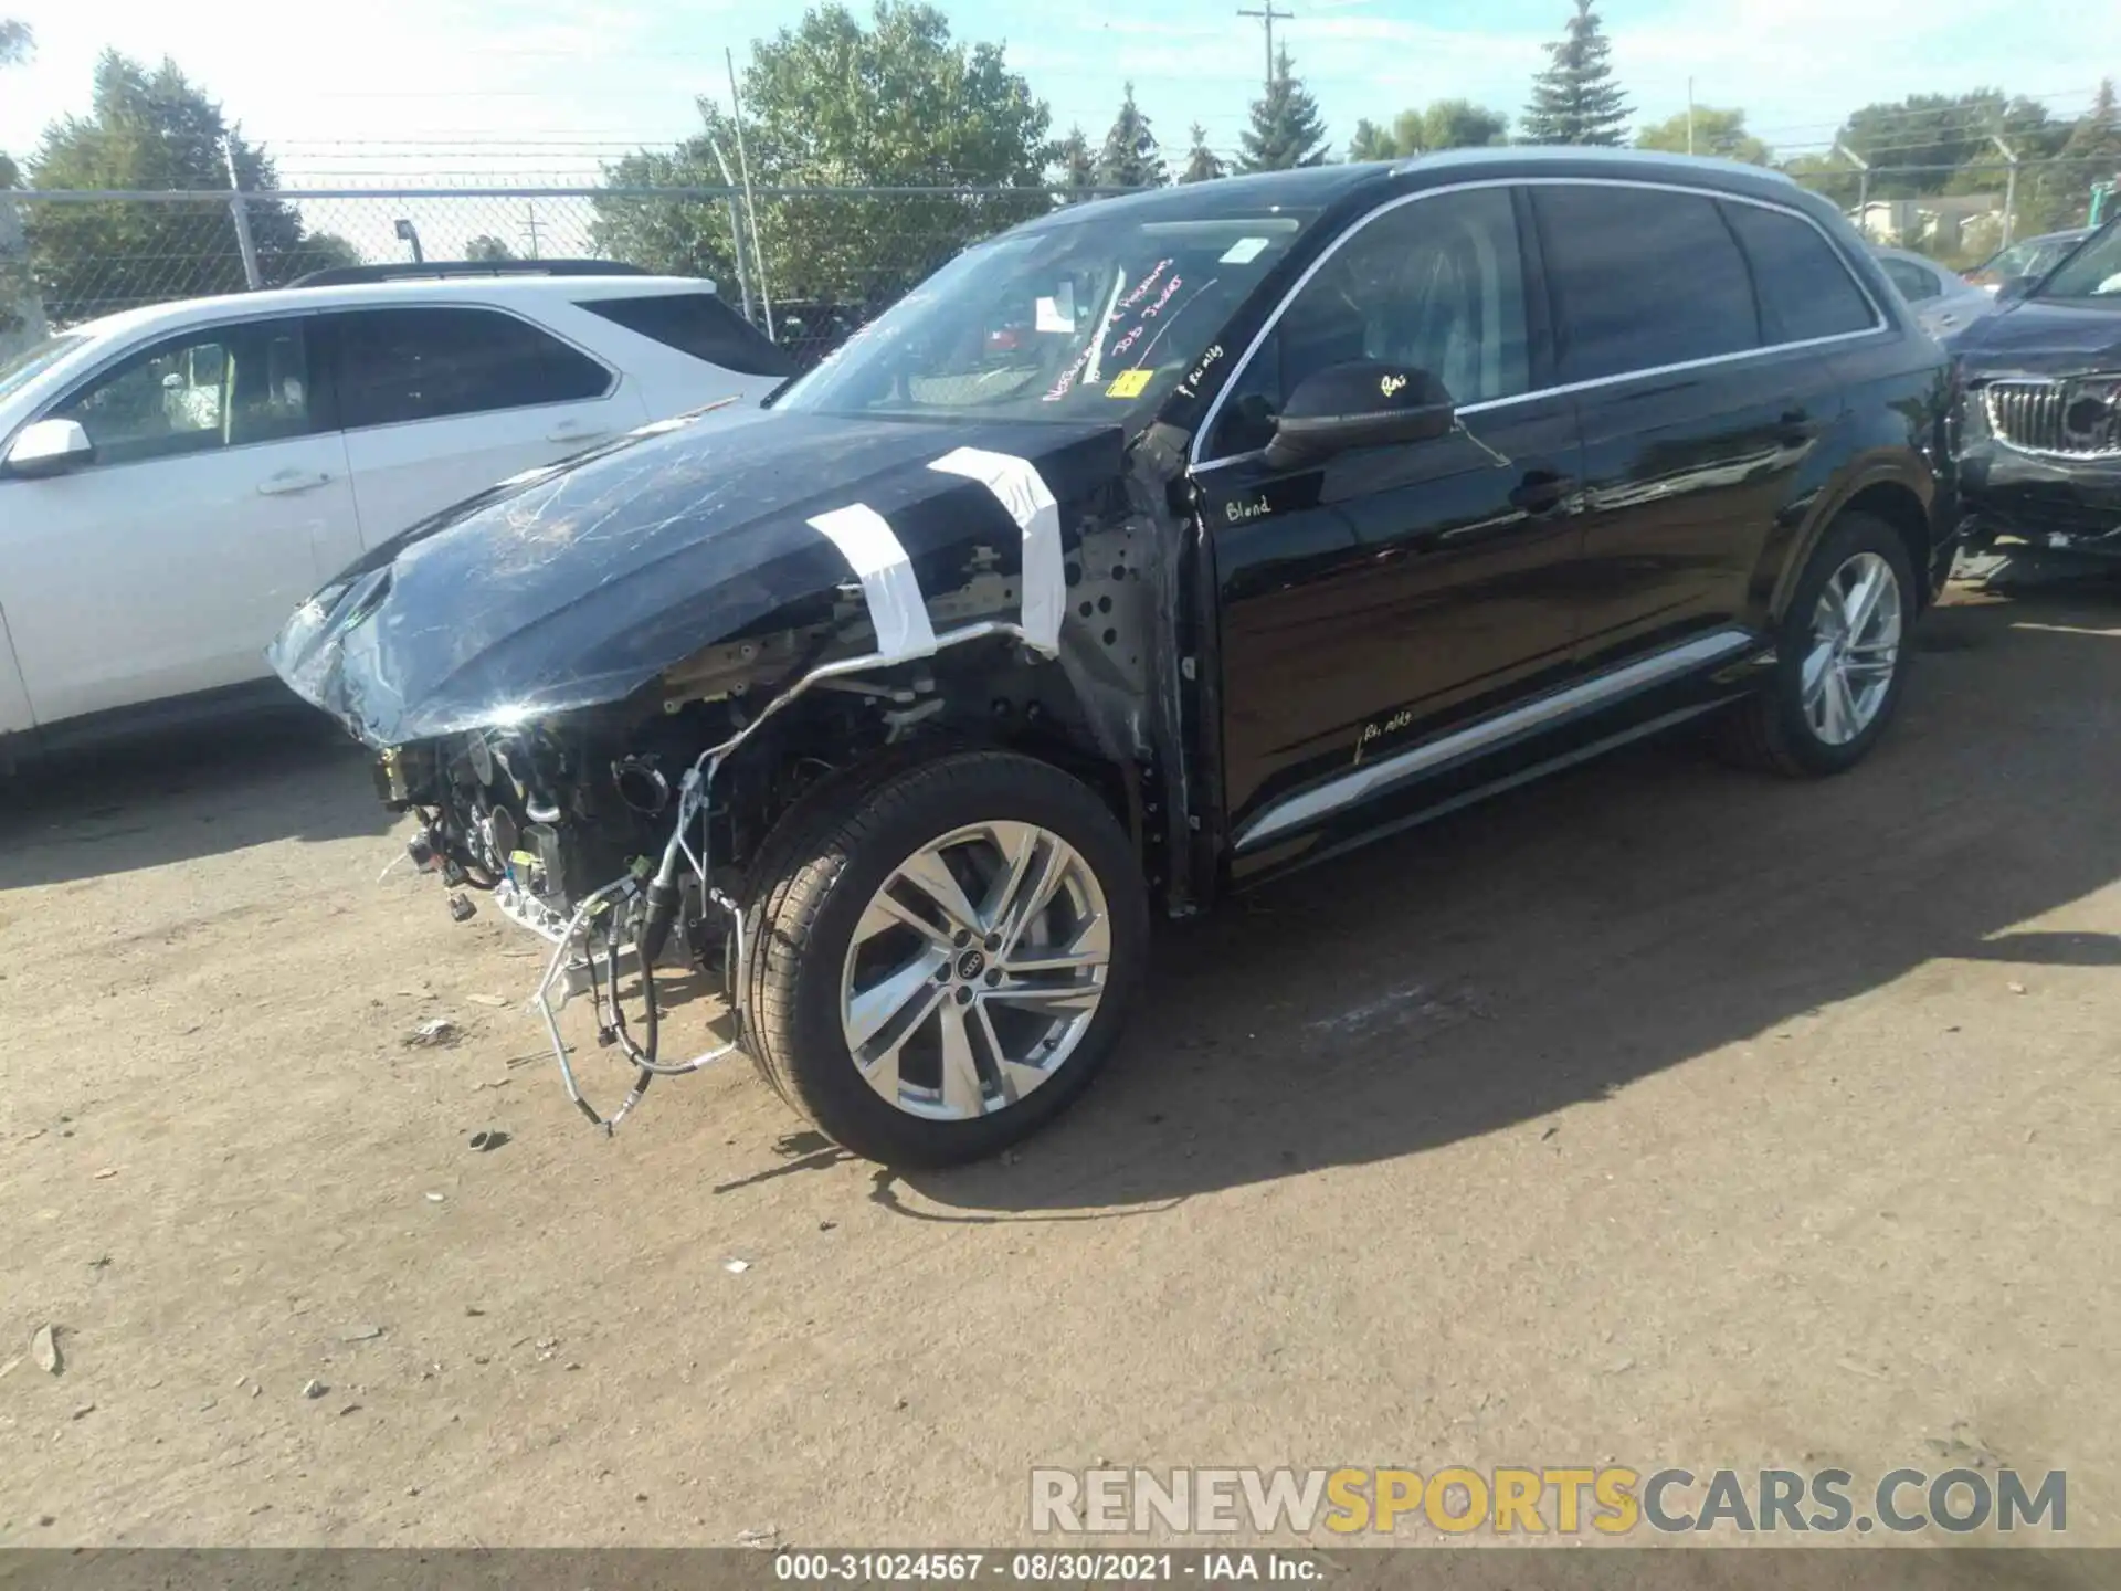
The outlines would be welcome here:
M 1075 849 L 1035 823 L 976 823 L 921 846 L 870 897 L 840 1029 L 891 1105 L 971 1120 L 1067 1063 L 1109 967 L 1105 891 Z

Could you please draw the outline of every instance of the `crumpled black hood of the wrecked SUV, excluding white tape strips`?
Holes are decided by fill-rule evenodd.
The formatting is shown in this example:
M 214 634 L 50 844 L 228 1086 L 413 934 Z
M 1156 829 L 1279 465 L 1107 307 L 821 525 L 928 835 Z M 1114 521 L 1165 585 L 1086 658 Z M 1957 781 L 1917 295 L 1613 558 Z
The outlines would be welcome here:
M 1082 507 L 1120 477 L 1124 435 L 772 409 L 651 426 L 375 547 L 267 655 L 299 696 L 388 747 L 615 702 L 783 609 L 874 592 L 876 571 L 861 566 L 874 532 L 829 532 L 844 509 L 867 509 L 857 518 L 880 520 L 884 545 L 904 552 L 899 592 L 906 571 L 921 598 L 976 569 L 1016 575 L 1020 590 L 1027 528 L 1003 486 L 933 469 L 963 450 L 1018 475 L 1029 465 L 1073 547 Z M 914 622 L 925 628 L 925 615 Z

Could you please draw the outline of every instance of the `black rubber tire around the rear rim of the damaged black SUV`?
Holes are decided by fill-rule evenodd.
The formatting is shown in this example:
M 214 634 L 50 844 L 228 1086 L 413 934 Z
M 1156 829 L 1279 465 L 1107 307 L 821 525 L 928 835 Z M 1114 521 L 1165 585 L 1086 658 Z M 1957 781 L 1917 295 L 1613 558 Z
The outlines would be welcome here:
M 1811 649 L 1811 619 L 1826 581 L 1858 554 L 1877 554 L 1900 588 L 1900 647 L 1886 698 L 1873 719 L 1850 740 L 1822 740 L 1805 713 L 1805 655 Z M 1843 513 L 1811 549 L 1796 579 L 1790 607 L 1775 630 L 1775 668 L 1758 694 L 1737 702 L 1720 723 L 1720 749 L 1733 762 L 1790 779 L 1839 774 L 1862 762 L 1886 732 L 1907 687 L 1909 626 L 1917 611 L 1917 588 L 1900 532 L 1869 513 Z

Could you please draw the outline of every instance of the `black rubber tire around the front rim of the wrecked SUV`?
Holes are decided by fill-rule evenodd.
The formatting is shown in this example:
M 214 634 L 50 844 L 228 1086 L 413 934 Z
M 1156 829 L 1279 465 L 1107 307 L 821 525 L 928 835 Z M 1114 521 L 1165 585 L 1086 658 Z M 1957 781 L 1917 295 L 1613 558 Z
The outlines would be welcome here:
M 744 902 L 744 1044 L 781 1097 L 846 1150 L 884 1165 L 980 1160 L 1050 1122 L 1111 1056 L 1147 957 L 1147 891 L 1111 810 L 1086 785 L 1007 751 L 967 751 L 882 772 L 861 793 L 836 783 L 804 802 L 759 853 Z M 1050 1080 L 969 1120 L 927 1120 L 878 1095 L 840 1027 L 855 927 L 895 868 L 952 829 L 1035 823 L 1094 874 L 1109 916 L 1105 993 Z

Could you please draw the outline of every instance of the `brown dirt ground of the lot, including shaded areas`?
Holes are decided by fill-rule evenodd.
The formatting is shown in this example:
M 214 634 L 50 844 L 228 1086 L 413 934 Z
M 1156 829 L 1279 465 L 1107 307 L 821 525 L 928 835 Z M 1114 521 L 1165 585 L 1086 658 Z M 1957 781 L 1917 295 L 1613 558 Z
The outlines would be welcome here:
M 993 1544 L 1033 1464 L 1608 1459 L 2064 1468 L 2121 1542 L 2121 600 L 1915 664 L 1847 779 L 1652 745 L 1162 933 L 1099 1088 L 948 1175 L 749 1067 L 596 1137 L 329 728 L 17 789 L 0 1542 Z

